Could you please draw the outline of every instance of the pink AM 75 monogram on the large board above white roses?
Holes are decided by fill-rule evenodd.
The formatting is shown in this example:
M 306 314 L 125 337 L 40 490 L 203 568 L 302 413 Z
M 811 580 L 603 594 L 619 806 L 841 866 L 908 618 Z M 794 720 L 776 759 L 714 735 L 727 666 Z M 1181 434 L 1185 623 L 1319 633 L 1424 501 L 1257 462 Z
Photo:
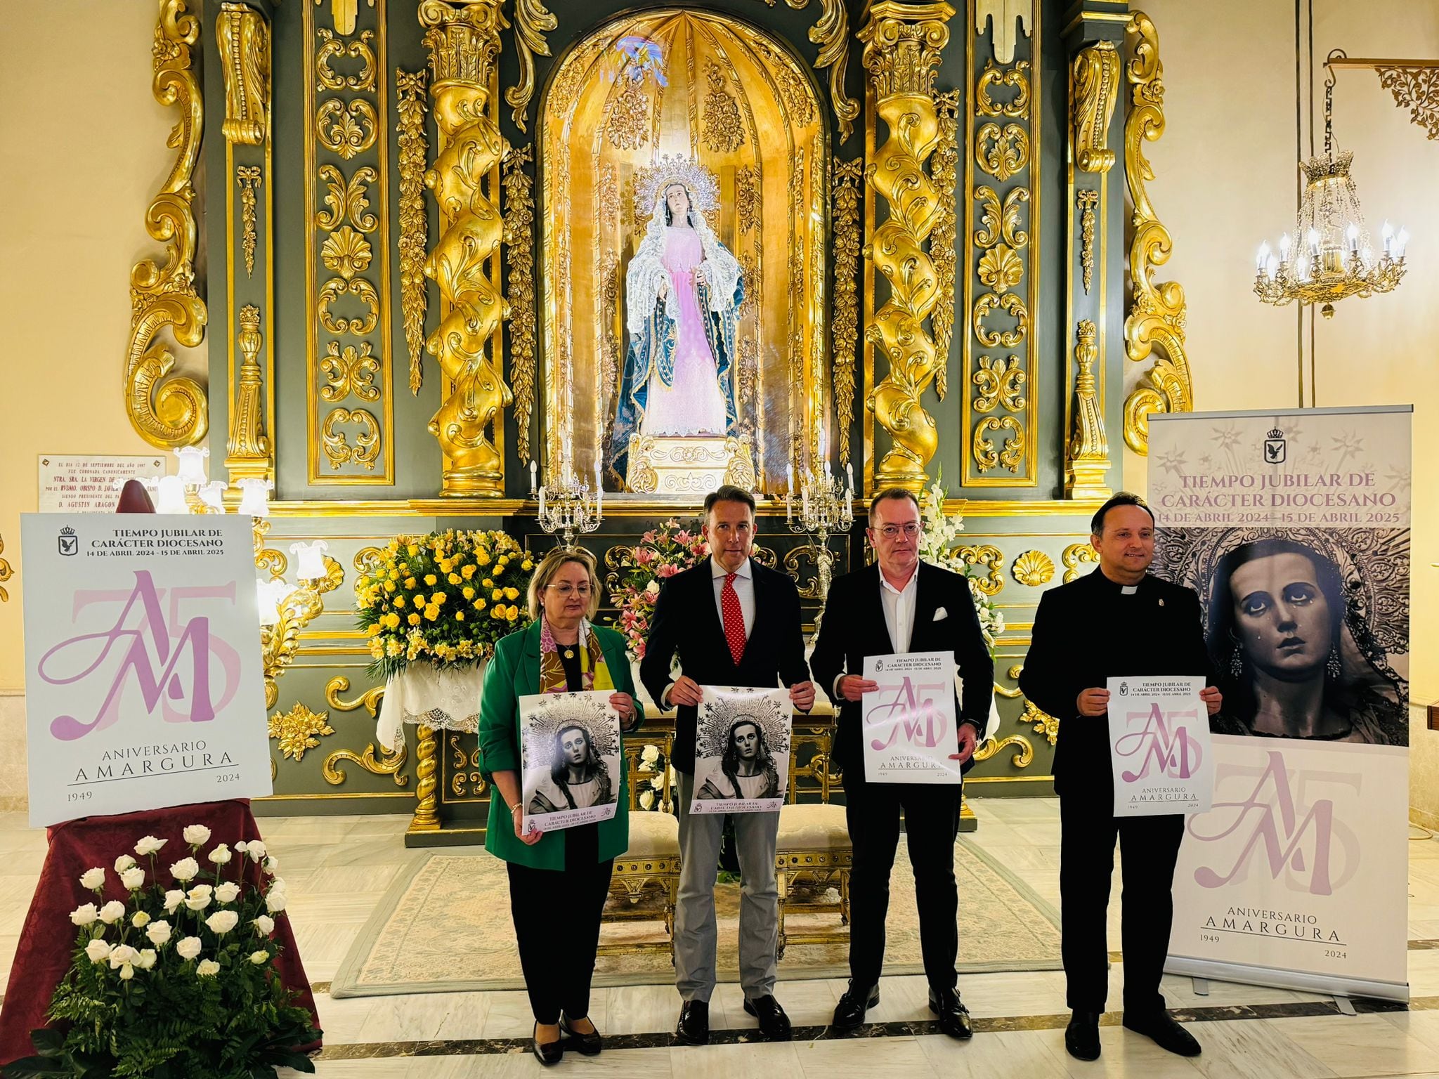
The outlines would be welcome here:
M 85 722 L 58 715 L 50 722 L 50 734 L 62 741 L 75 741 L 115 724 L 121 696 L 131 679 L 140 686 L 145 711 L 153 715 L 160 705 L 165 722 L 206 724 L 214 719 L 239 688 L 240 656 L 210 634 L 207 617 L 181 620 L 180 606 L 196 600 L 227 600 L 233 604 L 235 588 L 233 581 L 226 586 L 155 588 L 150 571 L 137 570 L 135 587 L 128 593 L 76 591 L 72 619 L 94 604 L 124 603 L 124 607 L 109 629 L 82 633 L 46 652 L 39 663 L 40 678 L 63 686 L 95 676 L 96 689 L 108 678 L 109 688 L 94 719 Z M 118 653 L 117 663 L 109 663 L 112 652 Z M 189 663 L 181 663 L 186 657 Z M 219 701 L 210 686 L 212 657 L 224 676 Z

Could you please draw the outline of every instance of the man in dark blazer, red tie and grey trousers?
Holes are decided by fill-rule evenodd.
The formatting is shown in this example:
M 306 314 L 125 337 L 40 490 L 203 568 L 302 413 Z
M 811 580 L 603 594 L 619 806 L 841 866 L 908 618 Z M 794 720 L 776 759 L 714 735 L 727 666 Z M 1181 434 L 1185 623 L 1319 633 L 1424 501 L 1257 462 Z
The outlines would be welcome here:
M 675 1037 L 709 1040 L 715 987 L 715 873 L 725 814 L 689 811 L 695 796 L 695 722 L 704 686 L 787 686 L 809 711 L 814 686 L 804 665 L 800 597 L 789 574 L 750 558 L 754 498 L 722 486 L 705 498 L 709 557 L 661 584 L 639 675 L 661 706 L 673 706 L 671 761 L 679 773 L 679 902 L 675 908 L 675 985 L 684 1001 Z M 679 657 L 682 673 L 671 675 Z M 790 1020 L 774 998 L 780 892 L 774 879 L 778 813 L 735 813 L 740 895 L 740 984 L 744 1010 L 773 1040 L 789 1039 Z

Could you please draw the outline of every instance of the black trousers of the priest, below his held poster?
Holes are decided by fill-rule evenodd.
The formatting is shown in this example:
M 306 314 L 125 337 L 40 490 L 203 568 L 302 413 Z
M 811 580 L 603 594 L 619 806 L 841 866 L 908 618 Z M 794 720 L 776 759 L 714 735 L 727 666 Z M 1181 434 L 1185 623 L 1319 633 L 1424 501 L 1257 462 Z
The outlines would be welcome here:
M 1174 922 L 1174 862 L 1184 837 L 1184 817 L 1109 816 L 1102 791 L 1059 796 L 1059 906 L 1063 932 L 1066 1000 L 1075 1011 L 1104 1011 L 1109 988 L 1105 935 L 1114 843 L 1124 873 L 1124 1010 L 1164 1007 L 1160 977 Z

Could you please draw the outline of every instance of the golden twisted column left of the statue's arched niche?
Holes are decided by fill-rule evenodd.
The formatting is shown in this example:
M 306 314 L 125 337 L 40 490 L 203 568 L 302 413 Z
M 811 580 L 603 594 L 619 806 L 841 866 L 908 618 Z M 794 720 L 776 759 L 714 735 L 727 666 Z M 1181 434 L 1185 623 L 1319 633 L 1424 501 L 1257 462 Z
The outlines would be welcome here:
M 504 220 L 492 201 L 492 173 L 505 140 L 491 117 L 501 0 L 452 4 L 425 0 L 420 26 L 430 53 L 439 145 L 425 174 L 440 209 L 442 235 L 425 263 L 440 291 L 439 328 L 425 344 L 445 375 L 443 401 L 429 430 L 445 455 L 443 496 L 504 495 L 504 410 L 512 403 L 501 374 L 499 325 L 508 305 L 492 281 Z M 489 180 L 491 183 L 486 183 Z

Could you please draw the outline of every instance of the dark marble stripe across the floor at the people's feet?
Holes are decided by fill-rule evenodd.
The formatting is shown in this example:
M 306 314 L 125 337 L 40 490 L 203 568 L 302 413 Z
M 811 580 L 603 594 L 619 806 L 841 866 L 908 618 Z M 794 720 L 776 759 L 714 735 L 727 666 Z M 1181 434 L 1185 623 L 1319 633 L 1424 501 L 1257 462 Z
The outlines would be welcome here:
M 1354 1010 L 1360 1014 L 1374 1014 L 1381 1011 L 1404 1011 L 1406 1006 L 1384 1000 L 1353 1001 Z M 1439 997 L 1415 997 L 1409 1001 L 1409 1011 L 1439 1011 Z M 1301 1019 L 1312 1016 L 1334 1016 L 1343 1013 L 1331 1000 L 1295 1001 L 1289 1004 L 1230 1004 L 1200 1009 L 1170 1009 L 1170 1014 L 1180 1023 L 1215 1023 L 1243 1019 Z M 1101 1023 L 1104 1026 L 1118 1026 L 1124 1019 L 1122 1011 L 1107 1011 Z M 979 1034 L 1010 1030 L 1063 1030 L 1069 1021 L 1069 1014 L 1058 1016 L 986 1016 L 974 1020 L 974 1032 Z M 872 1039 L 872 1037 L 921 1037 L 938 1034 L 940 1024 L 932 1020 L 898 1021 L 898 1023 L 866 1023 L 849 1032 L 832 1030 L 830 1027 L 812 1026 L 794 1027 L 794 1042 L 833 1042 L 837 1039 Z M 763 1042 L 758 1030 L 712 1030 L 709 1044 L 730 1046 Z M 668 1049 L 675 1044 L 671 1033 L 650 1034 L 606 1034 L 606 1049 Z M 353 1044 L 328 1044 L 319 1053 L 319 1060 L 376 1060 L 389 1057 L 416 1056 L 488 1056 L 494 1053 L 527 1052 L 528 1037 L 492 1037 L 492 1039 L 450 1039 L 445 1042 L 355 1042 Z

